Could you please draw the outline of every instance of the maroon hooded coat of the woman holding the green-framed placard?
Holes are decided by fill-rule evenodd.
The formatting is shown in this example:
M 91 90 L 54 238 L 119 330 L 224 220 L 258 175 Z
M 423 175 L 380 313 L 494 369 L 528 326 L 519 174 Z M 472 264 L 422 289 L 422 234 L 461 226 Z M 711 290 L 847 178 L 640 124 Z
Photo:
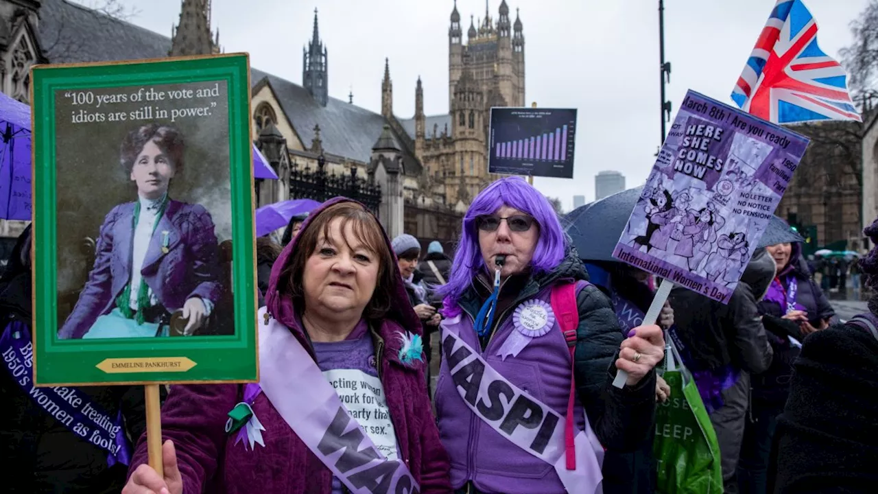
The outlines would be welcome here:
M 302 225 L 307 229 L 313 218 L 327 206 L 341 202 L 329 200 L 308 216 Z M 271 270 L 266 305 L 271 316 L 290 328 L 313 357 L 313 350 L 291 298 L 282 296 L 286 280 L 280 273 L 291 261 L 301 235 L 289 243 Z M 387 248 L 390 241 L 385 236 Z M 379 356 L 381 381 L 387 396 L 387 408 L 399 441 L 402 460 L 421 486 L 422 494 L 450 494 L 449 458 L 439 440 L 439 431 L 430 408 L 424 382 L 424 368 L 408 367 L 399 361 L 400 342 L 395 331 L 405 329 L 421 334 L 421 323 L 408 303 L 402 276 L 393 265 L 397 298 L 383 321 L 371 322 L 372 338 L 384 341 Z M 378 346 L 377 346 L 378 347 Z M 330 494 L 332 473 L 284 422 L 268 398 L 256 396 L 253 411 L 265 427 L 265 447 L 245 450 L 234 444 L 235 434 L 227 434 L 227 413 L 241 402 L 243 385 L 177 385 L 171 388 L 162 407 L 162 440 L 173 440 L 177 465 L 183 476 L 184 494 Z M 138 442 L 129 475 L 140 463 L 148 461 L 146 434 Z

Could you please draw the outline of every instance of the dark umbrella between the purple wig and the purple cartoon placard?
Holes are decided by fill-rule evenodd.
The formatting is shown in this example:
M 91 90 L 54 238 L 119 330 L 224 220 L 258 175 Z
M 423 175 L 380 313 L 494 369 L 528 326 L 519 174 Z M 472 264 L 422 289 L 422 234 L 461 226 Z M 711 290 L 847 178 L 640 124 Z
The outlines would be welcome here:
M 639 186 L 615 193 L 585 206 L 577 207 L 566 216 L 566 226 L 579 258 L 588 261 L 613 261 L 615 244 L 628 224 L 634 205 L 643 192 Z

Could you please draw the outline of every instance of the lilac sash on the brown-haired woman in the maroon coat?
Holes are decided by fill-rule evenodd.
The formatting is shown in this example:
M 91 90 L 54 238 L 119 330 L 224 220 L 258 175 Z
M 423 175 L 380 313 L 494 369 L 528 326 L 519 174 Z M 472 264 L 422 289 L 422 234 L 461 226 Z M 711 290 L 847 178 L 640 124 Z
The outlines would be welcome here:
M 259 310 L 260 321 L 265 314 Z M 352 493 L 420 493 L 406 464 L 378 451 L 311 355 L 274 318 L 259 326 L 259 380 L 287 425 Z

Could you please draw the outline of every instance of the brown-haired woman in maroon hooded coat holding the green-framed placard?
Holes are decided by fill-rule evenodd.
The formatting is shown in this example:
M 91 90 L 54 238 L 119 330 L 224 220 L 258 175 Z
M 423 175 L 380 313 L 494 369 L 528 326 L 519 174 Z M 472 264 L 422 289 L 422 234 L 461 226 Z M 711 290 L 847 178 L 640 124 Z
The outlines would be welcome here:
M 421 323 L 378 218 L 327 201 L 269 285 L 260 381 L 174 386 L 162 407 L 164 476 L 141 438 L 123 493 L 450 494 Z

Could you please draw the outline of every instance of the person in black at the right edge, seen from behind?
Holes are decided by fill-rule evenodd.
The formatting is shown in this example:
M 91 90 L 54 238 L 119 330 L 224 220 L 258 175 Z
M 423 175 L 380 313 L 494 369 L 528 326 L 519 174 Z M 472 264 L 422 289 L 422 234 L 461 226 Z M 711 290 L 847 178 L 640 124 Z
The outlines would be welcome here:
M 878 244 L 878 221 L 865 230 Z M 802 342 L 774 432 L 768 492 L 874 492 L 878 486 L 878 247 L 860 260 L 869 311 Z

